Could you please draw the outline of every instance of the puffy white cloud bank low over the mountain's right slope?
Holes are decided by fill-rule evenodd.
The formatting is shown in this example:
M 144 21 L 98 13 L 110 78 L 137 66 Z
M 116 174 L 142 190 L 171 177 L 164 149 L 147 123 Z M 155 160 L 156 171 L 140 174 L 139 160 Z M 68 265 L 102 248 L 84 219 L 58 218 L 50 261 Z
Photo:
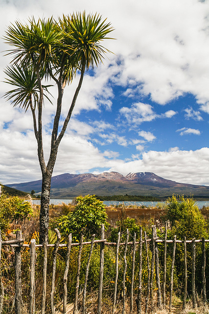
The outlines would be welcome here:
M 209 148 L 196 151 L 142 153 L 140 159 L 130 162 L 113 162 L 111 171 L 123 175 L 129 172 L 154 172 L 165 179 L 180 183 L 209 185 Z

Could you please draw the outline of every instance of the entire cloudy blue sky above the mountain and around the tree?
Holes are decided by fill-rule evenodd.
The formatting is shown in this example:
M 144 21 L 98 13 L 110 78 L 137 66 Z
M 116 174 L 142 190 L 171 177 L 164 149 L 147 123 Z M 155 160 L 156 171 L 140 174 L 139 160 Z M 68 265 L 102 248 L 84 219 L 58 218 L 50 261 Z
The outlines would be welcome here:
M 209 1 L 0 0 L 0 37 L 15 20 L 98 12 L 115 28 L 103 64 L 86 73 L 54 175 L 150 171 L 209 185 Z M 8 49 L 0 39 L 0 51 Z M 0 56 L 0 182 L 41 178 L 30 112 L 2 96 L 9 86 Z M 64 119 L 79 75 L 66 87 Z M 51 88 L 56 97 L 56 89 Z M 44 111 L 45 157 L 54 107 Z M 62 121 L 61 121 L 62 123 Z

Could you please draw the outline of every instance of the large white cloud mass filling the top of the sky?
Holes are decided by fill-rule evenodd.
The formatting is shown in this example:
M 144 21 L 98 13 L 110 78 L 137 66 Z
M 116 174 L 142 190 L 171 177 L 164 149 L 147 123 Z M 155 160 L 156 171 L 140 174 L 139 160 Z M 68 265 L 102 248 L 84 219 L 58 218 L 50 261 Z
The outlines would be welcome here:
M 110 60 L 104 61 L 104 68 L 99 67 L 96 77 L 86 78 L 87 86 L 79 96 L 76 112 L 80 108 L 98 109 L 95 99 L 98 94 L 104 97 L 103 105 L 110 109 L 108 98 L 113 91 L 108 86 L 109 79 L 126 86 L 127 96 L 135 94 L 139 86 L 140 92 L 151 95 L 160 104 L 184 93 L 192 93 L 201 104 L 209 101 L 208 1 L 107 0 L 104 6 L 94 0 L 28 0 L 19 1 L 18 5 L 10 0 L 1 3 L 0 37 L 5 26 L 16 19 L 26 20 L 31 12 L 35 17 L 54 14 L 56 18 L 63 12 L 83 9 L 99 12 L 112 22 L 115 31 L 111 35 L 116 40 L 108 40 L 106 47 L 115 55 L 108 55 Z M 127 32 L 127 25 L 132 26 L 131 32 Z M 5 44 L 1 43 L 0 48 L 4 51 Z M 115 62 L 116 58 L 120 63 Z M 8 60 L 8 56 L 2 58 L 1 68 Z M 70 92 L 69 95 L 72 96 Z

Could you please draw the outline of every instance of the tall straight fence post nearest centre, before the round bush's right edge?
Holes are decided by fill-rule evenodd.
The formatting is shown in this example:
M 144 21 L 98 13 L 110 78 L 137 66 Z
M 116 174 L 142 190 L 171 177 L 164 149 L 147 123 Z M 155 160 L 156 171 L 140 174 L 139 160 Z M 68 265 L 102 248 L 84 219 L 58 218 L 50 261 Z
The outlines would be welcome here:
M 101 240 L 104 240 L 104 224 L 101 225 Z M 102 284 L 104 273 L 104 242 L 100 243 L 100 267 L 99 267 L 99 288 L 97 300 L 97 314 L 101 314 L 102 309 Z

